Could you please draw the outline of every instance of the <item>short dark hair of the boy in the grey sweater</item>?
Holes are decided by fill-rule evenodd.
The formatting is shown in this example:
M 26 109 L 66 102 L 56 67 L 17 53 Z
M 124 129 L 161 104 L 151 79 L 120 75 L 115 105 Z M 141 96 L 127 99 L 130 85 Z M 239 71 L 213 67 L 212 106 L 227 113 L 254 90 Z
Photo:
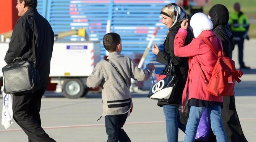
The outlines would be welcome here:
M 117 33 L 107 33 L 103 37 L 103 46 L 109 52 L 115 51 L 120 43 L 121 37 Z

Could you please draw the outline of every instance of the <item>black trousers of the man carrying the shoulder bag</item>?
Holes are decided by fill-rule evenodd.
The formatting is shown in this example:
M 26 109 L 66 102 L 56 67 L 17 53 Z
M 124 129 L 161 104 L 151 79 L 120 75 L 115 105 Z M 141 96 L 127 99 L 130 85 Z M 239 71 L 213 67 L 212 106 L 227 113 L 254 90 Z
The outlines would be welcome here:
M 45 90 L 13 95 L 13 119 L 28 135 L 29 142 L 55 142 L 41 127 L 41 99 Z

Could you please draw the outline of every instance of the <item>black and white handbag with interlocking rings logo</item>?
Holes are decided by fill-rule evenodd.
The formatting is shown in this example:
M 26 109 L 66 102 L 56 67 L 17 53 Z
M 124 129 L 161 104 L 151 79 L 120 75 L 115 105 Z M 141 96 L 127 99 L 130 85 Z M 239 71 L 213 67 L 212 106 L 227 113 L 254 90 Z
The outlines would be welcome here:
M 165 66 L 159 77 L 162 75 L 165 75 L 164 79 L 159 80 L 156 84 L 152 84 L 147 97 L 164 102 L 173 102 L 178 77 L 174 76 L 171 57 L 168 60 L 168 65 Z

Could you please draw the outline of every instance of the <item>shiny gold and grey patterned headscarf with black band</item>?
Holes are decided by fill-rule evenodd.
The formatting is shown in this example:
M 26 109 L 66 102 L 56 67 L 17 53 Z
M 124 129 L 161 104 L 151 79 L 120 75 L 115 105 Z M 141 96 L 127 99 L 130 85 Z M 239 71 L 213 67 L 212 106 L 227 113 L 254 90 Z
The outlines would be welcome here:
M 181 24 L 183 20 L 188 19 L 186 12 L 175 3 L 165 5 L 160 14 L 164 14 L 165 16 L 172 18 L 172 26 L 175 24 Z

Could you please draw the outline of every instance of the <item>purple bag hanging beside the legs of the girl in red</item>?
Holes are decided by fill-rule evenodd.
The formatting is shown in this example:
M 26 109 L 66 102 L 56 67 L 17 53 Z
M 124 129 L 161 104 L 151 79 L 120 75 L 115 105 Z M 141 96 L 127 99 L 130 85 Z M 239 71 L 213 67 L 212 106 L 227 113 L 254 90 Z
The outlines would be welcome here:
M 196 140 L 207 142 L 211 135 L 211 120 L 207 108 L 204 109 L 196 131 Z

